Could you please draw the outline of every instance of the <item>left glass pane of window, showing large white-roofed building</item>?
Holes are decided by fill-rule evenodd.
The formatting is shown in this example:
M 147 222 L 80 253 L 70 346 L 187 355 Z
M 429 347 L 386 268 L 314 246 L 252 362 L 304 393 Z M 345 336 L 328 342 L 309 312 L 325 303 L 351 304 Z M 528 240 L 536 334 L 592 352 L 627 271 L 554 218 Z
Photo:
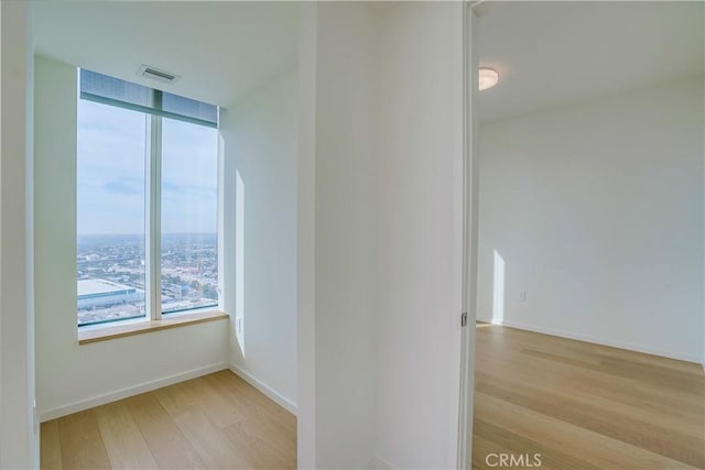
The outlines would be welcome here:
M 80 100 L 78 325 L 145 315 L 144 114 Z

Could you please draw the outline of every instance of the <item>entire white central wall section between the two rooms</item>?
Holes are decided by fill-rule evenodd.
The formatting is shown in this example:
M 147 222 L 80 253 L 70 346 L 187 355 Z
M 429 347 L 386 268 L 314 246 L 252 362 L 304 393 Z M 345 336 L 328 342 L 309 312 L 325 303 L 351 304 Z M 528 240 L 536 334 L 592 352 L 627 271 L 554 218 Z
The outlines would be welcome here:
M 304 9 L 302 468 L 455 467 L 460 13 L 459 3 Z

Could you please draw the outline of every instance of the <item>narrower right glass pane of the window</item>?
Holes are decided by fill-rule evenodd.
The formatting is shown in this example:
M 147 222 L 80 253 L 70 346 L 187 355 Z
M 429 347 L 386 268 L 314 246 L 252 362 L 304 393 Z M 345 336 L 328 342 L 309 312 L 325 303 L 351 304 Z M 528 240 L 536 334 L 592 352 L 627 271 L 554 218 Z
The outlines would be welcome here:
M 217 135 L 213 129 L 172 119 L 162 121 L 162 311 L 214 307 Z

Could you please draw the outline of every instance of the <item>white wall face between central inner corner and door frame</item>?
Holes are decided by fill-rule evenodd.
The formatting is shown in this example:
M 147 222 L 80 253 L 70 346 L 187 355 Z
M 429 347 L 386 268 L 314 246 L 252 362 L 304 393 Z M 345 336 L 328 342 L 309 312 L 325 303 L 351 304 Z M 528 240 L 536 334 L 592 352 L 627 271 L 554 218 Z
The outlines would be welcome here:
M 409 2 L 380 28 L 377 453 L 397 468 L 456 467 L 460 15 L 459 2 Z

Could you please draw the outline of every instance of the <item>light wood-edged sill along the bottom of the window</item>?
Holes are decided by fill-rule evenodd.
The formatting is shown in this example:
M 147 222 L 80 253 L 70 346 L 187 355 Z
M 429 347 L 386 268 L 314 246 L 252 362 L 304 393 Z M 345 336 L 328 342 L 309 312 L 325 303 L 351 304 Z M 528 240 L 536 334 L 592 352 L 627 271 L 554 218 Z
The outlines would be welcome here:
M 89 345 L 91 342 L 107 341 L 109 339 L 123 338 L 127 336 L 143 335 L 145 332 L 160 331 L 163 329 L 185 327 L 187 325 L 224 320 L 228 317 L 229 315 L 225 311 L 210 310 L 203 313 L 199 311 L 196 314 L 177 315 L 161 320 L 111 325 L 109 327 L 78 331 L 78 343 Z

